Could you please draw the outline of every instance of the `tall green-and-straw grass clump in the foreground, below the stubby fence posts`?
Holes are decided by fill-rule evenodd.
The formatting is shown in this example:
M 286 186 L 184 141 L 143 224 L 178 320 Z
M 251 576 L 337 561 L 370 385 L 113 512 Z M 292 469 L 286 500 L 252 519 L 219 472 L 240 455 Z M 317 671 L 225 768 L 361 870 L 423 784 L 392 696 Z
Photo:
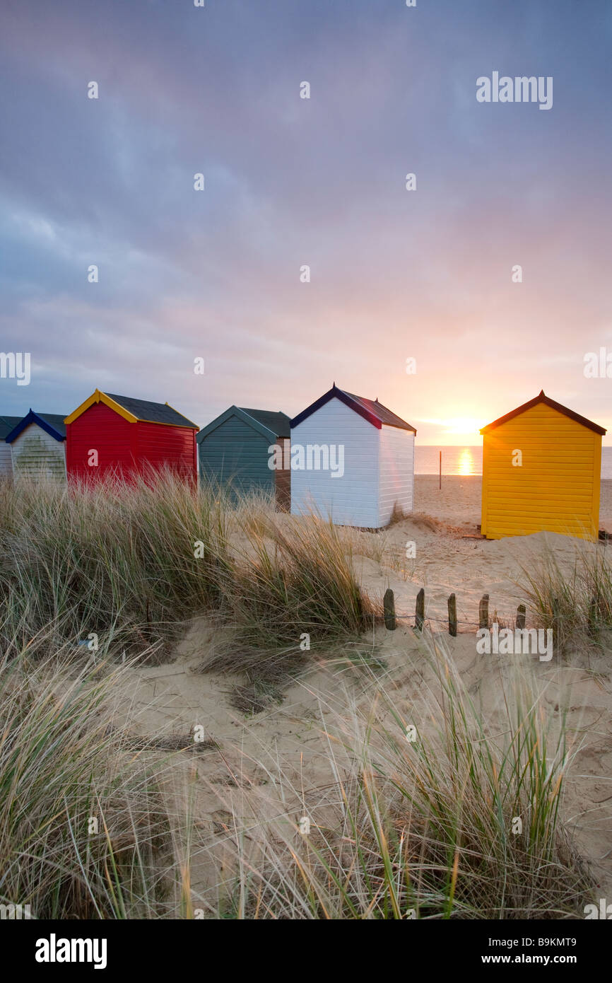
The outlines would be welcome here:
M 382 686 L 366 712 L 322 710 L 335 781 L 306 799 L 284 788 L 303 798 L 307 835 L 295 811 L 257 837 L 266 810 L 235 815 L 233 917 L 584 917 L 593 882 L 559 819 L 573 760 L 563 715 L 550 720 L 524 670 L 500 683 L 503 725 L 486 725 L 448 656 L 427 645 L 435 681 L 413 741 L 405 701 Z

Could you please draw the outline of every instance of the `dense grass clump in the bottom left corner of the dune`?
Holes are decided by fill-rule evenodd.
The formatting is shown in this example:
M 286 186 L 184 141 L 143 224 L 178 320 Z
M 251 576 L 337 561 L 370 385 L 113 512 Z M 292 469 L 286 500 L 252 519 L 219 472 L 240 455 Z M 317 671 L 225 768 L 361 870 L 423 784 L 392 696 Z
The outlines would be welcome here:
M 61 652 L 0 665 L 0 903 L 37 919 L 171 917 L 163 759 L 135 755 L 112 726 L 124 668 L 99 668 L 75 672 Z

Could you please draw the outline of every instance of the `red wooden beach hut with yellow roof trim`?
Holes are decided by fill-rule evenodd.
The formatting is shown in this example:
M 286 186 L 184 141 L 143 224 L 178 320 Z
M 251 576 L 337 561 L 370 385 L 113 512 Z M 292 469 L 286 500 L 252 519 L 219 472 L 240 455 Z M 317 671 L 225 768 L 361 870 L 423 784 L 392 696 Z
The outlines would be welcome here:
M 69 479 L 129 479 L 168 469 L 196 480 L 197 424 L 168 403 L 96 389 L 65 424 Z

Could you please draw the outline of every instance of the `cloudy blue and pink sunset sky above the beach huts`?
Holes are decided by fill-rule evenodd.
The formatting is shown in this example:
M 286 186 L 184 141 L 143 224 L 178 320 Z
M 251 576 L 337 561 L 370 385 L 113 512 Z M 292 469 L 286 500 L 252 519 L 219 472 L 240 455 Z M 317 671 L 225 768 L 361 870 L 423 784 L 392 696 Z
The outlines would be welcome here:
M 2 0 L 0 350 L 31 375 L 0 414 L 100 388 L 204 426 L 335 381 L 477 443 L 543 388 L 612 443 L 611 42 L 609 0 Z M 478 101 L 494 72 L 551 108 Z

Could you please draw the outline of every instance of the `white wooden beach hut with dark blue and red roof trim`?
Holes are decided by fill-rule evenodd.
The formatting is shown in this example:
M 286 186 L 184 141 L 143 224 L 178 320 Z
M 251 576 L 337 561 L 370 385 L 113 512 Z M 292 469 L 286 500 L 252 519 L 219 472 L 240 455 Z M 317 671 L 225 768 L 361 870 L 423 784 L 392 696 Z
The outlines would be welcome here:
M 380 529 L 413 511 L 415 434 L 377 399 L 334 382 L 291 421 L 291 511 Z

